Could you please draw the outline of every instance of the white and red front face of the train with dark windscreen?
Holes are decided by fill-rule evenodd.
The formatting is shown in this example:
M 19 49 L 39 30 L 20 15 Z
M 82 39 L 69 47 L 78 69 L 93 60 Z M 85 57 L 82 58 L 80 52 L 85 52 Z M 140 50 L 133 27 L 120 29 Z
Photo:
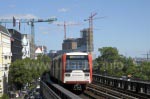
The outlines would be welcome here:
M 64 61 L 64 83 L 74 90 L 83 90 L 92 82 L 92 56 L 87 53 L 66 53 Z

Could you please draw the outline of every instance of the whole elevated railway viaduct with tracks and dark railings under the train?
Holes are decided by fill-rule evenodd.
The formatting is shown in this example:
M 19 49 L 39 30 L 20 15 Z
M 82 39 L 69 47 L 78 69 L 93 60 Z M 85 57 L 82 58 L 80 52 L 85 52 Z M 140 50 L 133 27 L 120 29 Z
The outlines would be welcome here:
M 150 99 L 149 83 L 147 82 L 124 81 L 93 74 L 93 83 L 88 84 L 86 90 L 77 95 L 51 82 L 48 75 L 43 78 L 41 93 L 44 99 L 49 99 L 49 97 L 53 99 Z

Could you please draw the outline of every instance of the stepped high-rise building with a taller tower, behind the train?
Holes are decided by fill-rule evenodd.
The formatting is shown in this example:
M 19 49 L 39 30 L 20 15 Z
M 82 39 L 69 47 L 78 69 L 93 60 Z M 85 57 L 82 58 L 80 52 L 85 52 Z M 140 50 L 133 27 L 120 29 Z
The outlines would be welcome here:
M 93 52 L 93 32 L 89 28 L 80 31 L 80 38 L 67 38 L 63 41 L 62 52 Z

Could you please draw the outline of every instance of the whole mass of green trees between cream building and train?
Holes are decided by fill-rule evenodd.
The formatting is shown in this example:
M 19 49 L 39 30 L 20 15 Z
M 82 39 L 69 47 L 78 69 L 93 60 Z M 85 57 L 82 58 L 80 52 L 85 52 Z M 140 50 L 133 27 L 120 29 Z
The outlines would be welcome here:
M 44 71 L 48 70 L 49 64 L 50 58 L 46 55 L 40 55 L 37 60 L 29 58 L 16 60 L 10 66 L 9 82 L 21 89 L 23 85 L 38 79 Z

